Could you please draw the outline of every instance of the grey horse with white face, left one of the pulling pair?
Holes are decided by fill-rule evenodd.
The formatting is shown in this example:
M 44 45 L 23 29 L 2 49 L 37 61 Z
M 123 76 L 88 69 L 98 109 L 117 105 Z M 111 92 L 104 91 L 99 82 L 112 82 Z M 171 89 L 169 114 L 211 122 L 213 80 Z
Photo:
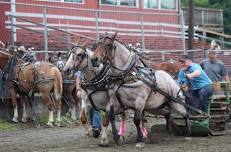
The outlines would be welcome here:
M 100 64 L 98 67 L 93 67 L 90 58 L 93 52 L 87 49 L 85 46 L 76 46 L 71 50 L 71 54 L 63 68 L 63 71 L 68 71 L 70 69 L 76 68 L 84 73 L 84 80 L 82 81 L 82 100 L 81 100 L 81 112 L 80 120 L 87 131 L 87 134 L 92 133 L 92 127 L 89 126 L 88 119 L 86 117 L 88 108 L 93 106 L 93 108 L 98 110 L 106 111 L 109 105 L 109 92 L 105 88 L 104 78 L 108 73 L 109 67 Z M 115 114 L 122 113 L 122 125 L 124 126 L 124 114 L 123 110 L 115 111 Z M 114 115 L 109 114 L 109 117 L 104 117 L 103 126 L 108 126 L 109 121 L 112 127 L 113 138 L 115 142 L 122 142 L 120 139 L 125 130 L 120 128 L 118 133 L 115 125 Z M 103 130 L 103 137 L 101 138 L 100 145 L 108 146 L 109 140 L 107 138 L 106 130 Z

